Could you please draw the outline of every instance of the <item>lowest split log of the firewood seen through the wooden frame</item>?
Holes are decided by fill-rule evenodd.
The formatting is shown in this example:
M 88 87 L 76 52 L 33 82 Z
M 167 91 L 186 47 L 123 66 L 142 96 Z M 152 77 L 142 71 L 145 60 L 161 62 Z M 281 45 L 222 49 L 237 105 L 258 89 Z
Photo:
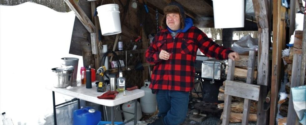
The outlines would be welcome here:
M 242 115 L 243 113 L 230 113 L 230 122 L 231 123 L 238 123 L 238 122 L 241 122 L 242 121 Z M 223 119 L 222 118 L 223 116 L 223 112 L 222 112 L 222 115 L 221 115 L 221 120 Z M 257 114 L 249 114 L 249 121 L 250 122 L 256 122 L 257 121 Z

